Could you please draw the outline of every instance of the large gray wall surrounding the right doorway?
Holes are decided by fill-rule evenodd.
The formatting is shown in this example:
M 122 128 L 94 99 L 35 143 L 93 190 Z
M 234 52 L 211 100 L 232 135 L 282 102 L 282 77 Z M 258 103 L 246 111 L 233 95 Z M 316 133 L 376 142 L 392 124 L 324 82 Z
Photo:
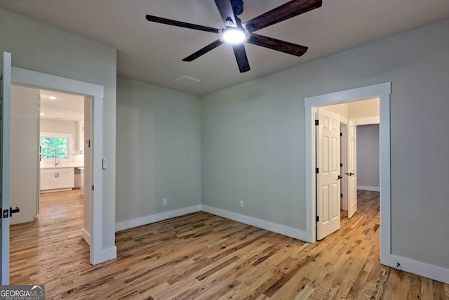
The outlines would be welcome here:
M 444 20 L 205 96 L 202 204 L 305 230 L 304 98 L 391 81 L 391 251 L 449 268 L 448 32 Z

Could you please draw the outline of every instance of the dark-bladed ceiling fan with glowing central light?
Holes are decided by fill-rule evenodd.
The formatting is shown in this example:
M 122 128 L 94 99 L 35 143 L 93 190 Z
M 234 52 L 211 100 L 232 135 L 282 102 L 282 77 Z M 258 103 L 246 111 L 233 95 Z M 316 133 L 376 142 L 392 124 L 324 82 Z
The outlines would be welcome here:
M 226 28 L 217 29 L 213 27 L 207 27 L 202 25 L 196 25 L 192 23 L 181 22 L 177 20 L 170 20 L 166 18 L 156 17 L 154 15 L 147 15 L 146 18 L 150 22 L 159 22 L 166 25 L 173 25 L 177 27 L 185 27 L 193 30 L 201 30 L 205 32 L 213 32 L 217 34 L 222 34 L 220 39 L 213 41 L 207 46 L 196 51 L 183 61 L 192 61 L 199 58 L 203 54 L 217 48 L 225 41 L 232 44 L 234 50 L 234 55 L 236 56 L 237 65 L 239 65 L 239 70 L 241 73 L 250 70 L 250 65 L 248 63 L 248 58 L 246 57 L 245 46 L 243 42 L 254 44 L 257 46 L 262 46 L 265 48 L 270 48 L 276 51 L 281 51 L 283 53 L 292 54 L 293 56 L 302 56 L 306 51 L 306 46 L 301 46 L 297 44 L 289 43 L 288 41 L 281 41 L 279 39 L 273 39 L 272 37 L 264 37 L 260 34 L 255 34 L 253 32 L 261 30 L 269 25 L 276 24 L 288 18 L 293 18 L 301 13 L 306 13 L 312 9 L 321 7 L 321 0 L 293 0 L 286 4 L 278 6 L 277 8 L 268 11 L 262 15 L 259 15 L 248 22 L 242 23 L 237 17 L 243 13 L 243 1 L 242 0 L 215 0 L 218 11 L 222 16 L 223 21 L 226 24 Z

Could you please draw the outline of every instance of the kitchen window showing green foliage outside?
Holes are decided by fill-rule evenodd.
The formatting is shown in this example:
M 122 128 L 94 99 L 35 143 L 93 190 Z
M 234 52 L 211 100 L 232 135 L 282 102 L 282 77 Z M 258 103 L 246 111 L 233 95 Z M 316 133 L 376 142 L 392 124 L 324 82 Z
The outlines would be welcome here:
M 70 158 L 69 146 L 72 145 L 72 134 L 41 132 L 42 159 Z

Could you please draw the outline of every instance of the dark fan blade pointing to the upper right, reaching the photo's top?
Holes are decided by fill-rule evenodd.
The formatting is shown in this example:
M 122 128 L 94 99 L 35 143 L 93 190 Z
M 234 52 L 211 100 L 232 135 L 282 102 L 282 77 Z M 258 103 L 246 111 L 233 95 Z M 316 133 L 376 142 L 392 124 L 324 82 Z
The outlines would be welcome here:
M 243 23 L 243 28 L 248 32 L 255 32 L 269 25 L 276 24 L 283 20 L 293 18 L 296 15 L 307 13 L 312 9 L 319 8 L 322 5 L 322 0 L 293 0 L 286 4 L 278 6 L 277 8 L 268 11 L 253 20 Z

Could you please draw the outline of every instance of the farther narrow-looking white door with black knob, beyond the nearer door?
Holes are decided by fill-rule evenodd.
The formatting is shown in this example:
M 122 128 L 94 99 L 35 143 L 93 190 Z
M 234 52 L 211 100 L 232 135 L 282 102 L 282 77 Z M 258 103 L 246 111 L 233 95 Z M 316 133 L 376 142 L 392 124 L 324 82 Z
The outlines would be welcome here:
M 357 211 L 357 126 L 349 120 L 348 131 L 348 218 Z

